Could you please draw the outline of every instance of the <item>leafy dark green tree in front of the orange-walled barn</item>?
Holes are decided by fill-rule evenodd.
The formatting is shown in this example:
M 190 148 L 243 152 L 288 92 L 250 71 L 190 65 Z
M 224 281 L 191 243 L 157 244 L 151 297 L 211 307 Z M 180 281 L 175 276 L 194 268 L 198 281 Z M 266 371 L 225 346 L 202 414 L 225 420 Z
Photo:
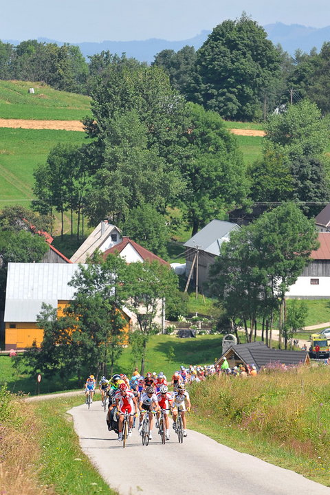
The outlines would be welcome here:
M 128 339 L 124 305 L 127 298 L 127 267 L 119 256 L 109 255 L 106 261 L 97 256 L 94 263 L 80 266 L 69 283 L 76 288 L 65 314 L 72 317 L 72 339 L 78 345 L 80 358 L 93 362 L 97 374 L 110 373 Z

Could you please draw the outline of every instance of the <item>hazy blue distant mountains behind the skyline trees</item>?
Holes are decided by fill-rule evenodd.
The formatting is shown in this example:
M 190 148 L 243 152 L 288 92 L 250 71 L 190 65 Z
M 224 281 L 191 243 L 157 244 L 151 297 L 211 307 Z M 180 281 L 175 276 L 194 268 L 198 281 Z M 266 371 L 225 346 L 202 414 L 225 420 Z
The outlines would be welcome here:
M 313 47 L 319 51 L 325 41 L 330 41 L 330 26 L 327 28 L 309 28 L 304 25 L 283 23 L 267 24 L 264 26 L 268 34 L 268 38 L 276 45 L 281 43 L 283 49 L 289 54 L 294 55 L 297 48 L 303 52 L 310 52 Z M 210 31 L 202 31 L 194 38 L 181 41 L 166 41 L 163 39 L 152 38 L 145 41 L 102 41 L 102 43 L 94 43 L 85 41 L 83 43 L 72 43 L 78 45 L 85 57 L 109 50 L 112 54 L 126 53 L 128 57 L 137 58 L 139 61 L 153 62 L 154 56 L 162 52 L 162 50 L 174 50 L 177 52 L 182 47 L 190 45 L 198 50 L 204 41 L 206 41 Z M 18 45 L 17 40 L 2 40 L 5 43 Z M 22 40 L 23 41 L 23 40 Z M 50 40 L 47 38 L 39 38 L 38 41 L 46 43 L 56 43 L 63 45 L 62 41 Z

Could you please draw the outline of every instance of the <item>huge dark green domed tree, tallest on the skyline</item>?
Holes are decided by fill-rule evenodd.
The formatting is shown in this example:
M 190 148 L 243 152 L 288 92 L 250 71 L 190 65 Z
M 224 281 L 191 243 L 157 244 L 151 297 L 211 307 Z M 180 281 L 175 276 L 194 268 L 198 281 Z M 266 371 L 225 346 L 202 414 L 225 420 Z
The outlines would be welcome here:
M 190 98 L 226 119 L 260 118 L 261 96 L 279 68 L 267 33 L 243 13 L 217 25 L 197 51 Z

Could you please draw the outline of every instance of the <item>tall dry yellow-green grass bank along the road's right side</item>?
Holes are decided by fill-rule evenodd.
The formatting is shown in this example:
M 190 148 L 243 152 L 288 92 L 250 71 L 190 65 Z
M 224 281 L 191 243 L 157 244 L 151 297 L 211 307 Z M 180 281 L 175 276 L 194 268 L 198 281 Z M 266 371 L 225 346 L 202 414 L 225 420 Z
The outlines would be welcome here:
M 330 370 L 214 377 L 190 386 L 188 427 L 330 485 Z

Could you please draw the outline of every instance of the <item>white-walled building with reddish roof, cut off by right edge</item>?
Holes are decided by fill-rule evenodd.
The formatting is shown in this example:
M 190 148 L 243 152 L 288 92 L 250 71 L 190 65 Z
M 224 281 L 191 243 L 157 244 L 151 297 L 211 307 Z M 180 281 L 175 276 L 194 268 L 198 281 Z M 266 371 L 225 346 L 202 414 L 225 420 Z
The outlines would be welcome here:
M 330 232 L 319 232 L 320 248 L 311 252 L 311 263 L 289 288 L 287 298 L 330 298 Z

